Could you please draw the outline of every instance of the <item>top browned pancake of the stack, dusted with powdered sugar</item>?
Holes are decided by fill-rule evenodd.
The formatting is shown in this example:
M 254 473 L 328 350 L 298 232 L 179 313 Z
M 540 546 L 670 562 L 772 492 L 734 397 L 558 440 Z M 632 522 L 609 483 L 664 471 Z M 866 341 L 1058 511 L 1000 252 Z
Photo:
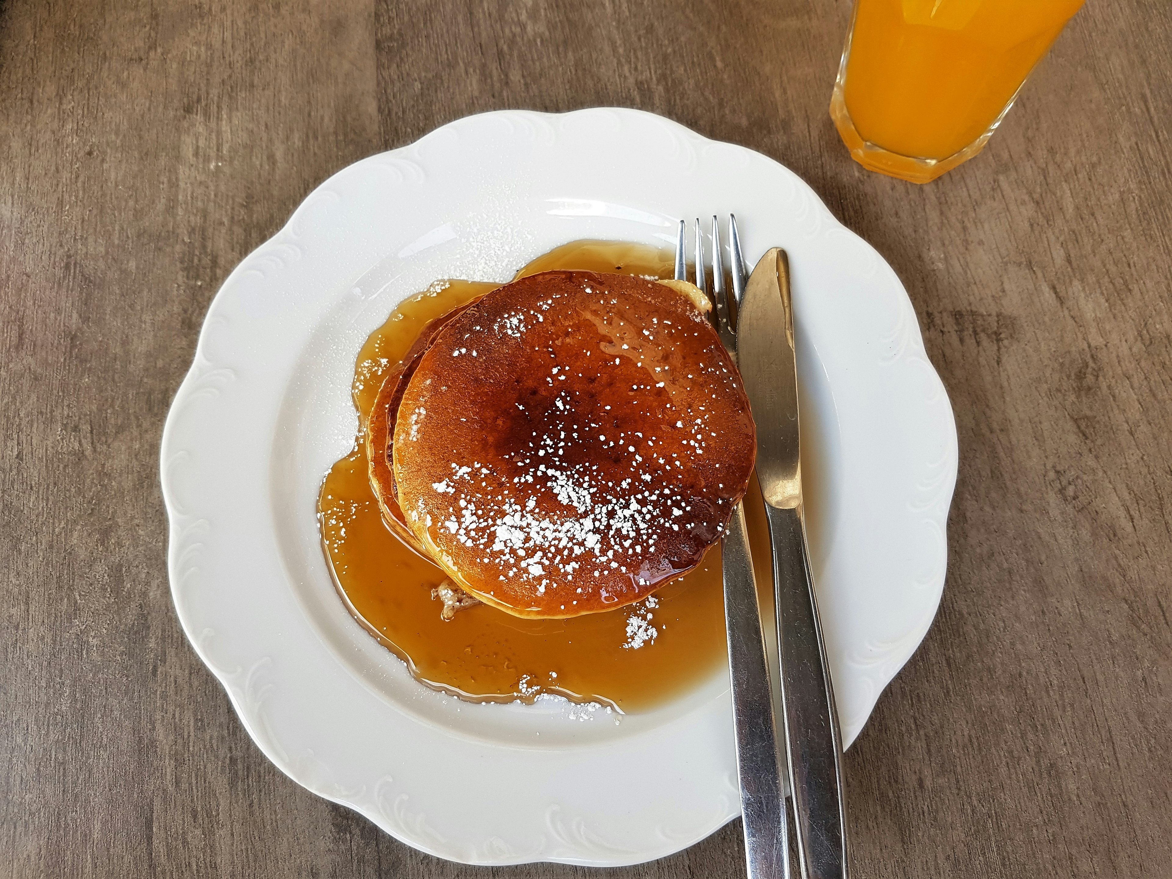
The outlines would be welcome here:
M 438 329 L 393 437 L 403 522 L 466 593 L 518 616 L 638 601 L 700 564 L 756 431 L 704 314 L 641 278 L 544 272 Z

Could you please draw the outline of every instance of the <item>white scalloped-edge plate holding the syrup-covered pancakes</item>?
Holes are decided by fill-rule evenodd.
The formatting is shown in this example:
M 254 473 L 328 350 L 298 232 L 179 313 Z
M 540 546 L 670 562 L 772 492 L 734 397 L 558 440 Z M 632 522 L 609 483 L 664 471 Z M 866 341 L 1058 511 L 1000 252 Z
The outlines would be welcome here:
M 727 674 L 646 715 L 434 693 L 334 593 L 315 499 L 354 359 L 436 278 L 504 281 L 578 238 L 670 244 L 734 211 L 793 271 L 811 541 L 850 743 L 935 614 L 952 409 L 892 270 L 776 162 L 634 110 L 491 113 L 336 173 L 207 312 L 163 432 L 171 592 L 250 735 L 299 784 L 452 860 L 622 865 L 740 811 Z

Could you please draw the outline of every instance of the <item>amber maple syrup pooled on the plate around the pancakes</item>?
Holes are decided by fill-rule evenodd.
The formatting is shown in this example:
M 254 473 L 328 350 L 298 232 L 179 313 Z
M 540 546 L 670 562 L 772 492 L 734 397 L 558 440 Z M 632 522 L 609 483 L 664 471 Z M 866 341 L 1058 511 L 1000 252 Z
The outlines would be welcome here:
M 670 278 L 670 251 L 612 241 L 574 241 L 534 259 L 522 278 L 554 268 Z M 499 285 L 440 281 L 403 301 L 370 334 L 352 394 L 360 422 L 427 323 Z M 362 425 L 360 424 L 360 437 Z M 751 481 L 750 497 L 759 492 Z M 759 509 L 759 502 L 747 504 Z M 366 444 L 334 464 L 318 503 L 327 560 L 354 618 L 429 687 L 478 702 L 532 702 L 557 694 L 620 711 L 655 708 L 725 663 L 720 546 L 650 598 L 570 619 L 522 619 L 479 605 L 443 620 L 432 590 L 447 578 L 384 524 L 370 489 Z M 750 517 L 755 554 L 768 558 L 764 517 Z M 759 554 L 761 552 L 765 554 Z M 758 570 L 770 592 L 771 572 Z

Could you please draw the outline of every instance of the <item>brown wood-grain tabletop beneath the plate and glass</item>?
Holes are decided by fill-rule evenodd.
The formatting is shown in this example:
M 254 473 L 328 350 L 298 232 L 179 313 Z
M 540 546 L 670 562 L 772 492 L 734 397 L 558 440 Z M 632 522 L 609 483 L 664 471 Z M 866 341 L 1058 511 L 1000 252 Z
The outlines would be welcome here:
M 490 874 L 251 743 L 171 608 L 159 432 L 216 288 L 328 175 L 465 114 L 593 104 L 802 175 L 902 278 L 952 396 L 948 581 L 846 758 L 856 875 L 1172 874 L 1172 7 L 1089 4 L 928 186 L 838 141 L 849 15 L 0 2 L 0 875 Z M 737 875 L 740 833 L 616 874 Z

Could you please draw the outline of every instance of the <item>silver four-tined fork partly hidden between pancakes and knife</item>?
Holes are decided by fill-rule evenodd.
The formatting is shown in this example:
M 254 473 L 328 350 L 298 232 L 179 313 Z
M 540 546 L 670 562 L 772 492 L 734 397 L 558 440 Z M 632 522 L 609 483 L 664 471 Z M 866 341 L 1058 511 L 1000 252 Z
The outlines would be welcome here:
M 724 284 L 721 232 L 713 217 L 713 289 L 704 271 L 704 237 L 696 220 L 695 284 L 713 300 L 713 320 L 729 355 L 736 361 L 735 315 Z M 675 278 L 688 280 L 684 255 L 686 225 L 680 220 L 675 250 Z M 744 259 L 736 218 L 729 216 L 732 292 L 737 302 L 744 292 Z M 737 775 L 741 781 L 741 812 L 749 879 L 789 879 L 790 864 L 785 825 L 785 782 L 778 748 L 784 725 L 777 720 L 774 682 L 766 660 L 768 645 L 757 582 L 749 554 L 744 507 L 736 505 L 721 545 L 724 567 L 724 619 L 728 628 L 729 672 L 732 683 L 732 717 L 736 725 Z

